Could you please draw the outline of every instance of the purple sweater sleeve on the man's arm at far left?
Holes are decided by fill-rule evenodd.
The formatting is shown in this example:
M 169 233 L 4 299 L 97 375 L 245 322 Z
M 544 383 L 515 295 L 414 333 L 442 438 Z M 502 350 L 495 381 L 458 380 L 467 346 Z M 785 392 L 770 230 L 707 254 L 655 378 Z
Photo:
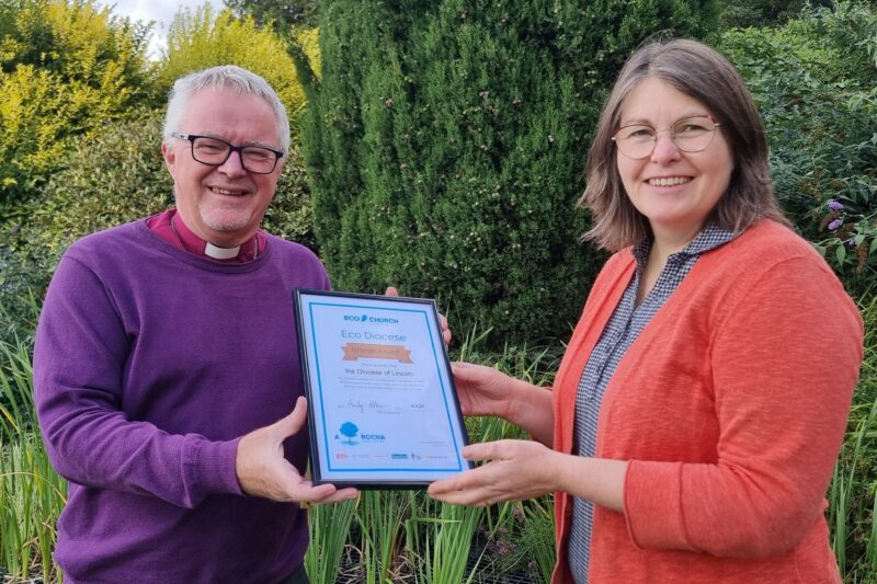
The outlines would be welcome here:
M 130 340 L 100 278 L 65 256 L 39 316 L 34 394 L 49 459 L 68 480 L 193 507 L 240 494 L 237 439 L 172 435 L 122 411 Z

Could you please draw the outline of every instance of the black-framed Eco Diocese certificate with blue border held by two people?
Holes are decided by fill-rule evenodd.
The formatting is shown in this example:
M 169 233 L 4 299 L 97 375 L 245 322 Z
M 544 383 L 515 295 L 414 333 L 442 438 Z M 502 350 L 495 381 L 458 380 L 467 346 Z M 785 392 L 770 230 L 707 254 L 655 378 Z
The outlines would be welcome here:
M 315 484 L 422 488 L 471 468 L 433 300 L 297 289 Z

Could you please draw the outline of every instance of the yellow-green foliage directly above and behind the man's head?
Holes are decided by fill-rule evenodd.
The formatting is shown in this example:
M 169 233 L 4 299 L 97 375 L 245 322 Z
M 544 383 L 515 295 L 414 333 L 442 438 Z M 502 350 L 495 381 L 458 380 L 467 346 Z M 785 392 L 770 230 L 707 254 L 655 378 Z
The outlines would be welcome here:
M 316 34 L 310 45 L 316 47 Z M 305 93 L 284 43 L 271 28 L 259 28 L 252 18 L 236 20 L 231 11 L 215 15 L 208 4 L 176 13 L 168 31 L 168 53 L 159 72 L 159 89 L 168 90 L 178 78 L 215 65 L 237 65 L 271 83 L 295 119 Z

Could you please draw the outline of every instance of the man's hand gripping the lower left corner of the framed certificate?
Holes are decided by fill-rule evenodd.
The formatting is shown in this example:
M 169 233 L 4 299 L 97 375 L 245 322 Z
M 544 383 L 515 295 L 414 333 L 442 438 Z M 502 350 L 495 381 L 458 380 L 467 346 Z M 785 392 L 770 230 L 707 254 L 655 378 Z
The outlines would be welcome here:
M 283 440 L 297 434 L 306 419 L 307 400 L 298 398 L 293 413 L 240 439 L 235 463 L 238 483 L 244 493 L 282 503 L 338 503 L 357 495 L 352 488 L 314 486 L 284 458 Z

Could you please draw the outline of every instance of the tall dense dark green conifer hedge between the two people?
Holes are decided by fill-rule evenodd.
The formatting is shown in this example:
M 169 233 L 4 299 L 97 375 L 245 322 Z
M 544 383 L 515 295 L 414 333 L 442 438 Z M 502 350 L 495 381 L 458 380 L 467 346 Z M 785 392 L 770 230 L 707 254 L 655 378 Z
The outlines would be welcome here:
M 335 285 L 437 297 L 456 327 L 489 323 L 498 343 L 566 336 L 604 260 L 577 243 L 574 204 L 606 88 L 654 31 L 703 34 L 703 9 L 321 4 L 303 149 Z

